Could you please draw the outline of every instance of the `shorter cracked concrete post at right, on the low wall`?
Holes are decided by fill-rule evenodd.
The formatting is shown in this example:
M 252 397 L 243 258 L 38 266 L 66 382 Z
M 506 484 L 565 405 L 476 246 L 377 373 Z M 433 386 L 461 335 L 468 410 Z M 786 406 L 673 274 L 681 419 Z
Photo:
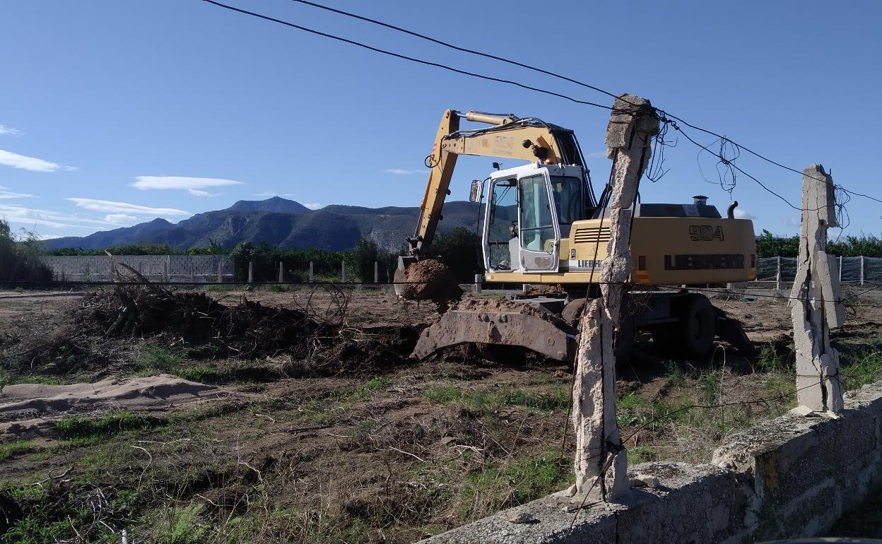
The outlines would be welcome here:
M 796 399 L 813 412 L 840 412 L 839 354 L 830 346 L 831 328 L 845 322 L 835 257 L 826 254 L 828 227 L 836 226 L 833 178 L 824 167 L 803 170 L 803 212 L 799 259 L 791 291 L 796 345 Z

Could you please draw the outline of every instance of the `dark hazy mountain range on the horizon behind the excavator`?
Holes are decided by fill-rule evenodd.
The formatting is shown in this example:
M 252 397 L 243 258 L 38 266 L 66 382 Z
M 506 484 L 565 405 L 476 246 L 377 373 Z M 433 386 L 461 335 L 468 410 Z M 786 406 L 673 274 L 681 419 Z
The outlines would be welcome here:
M 442 232 L 454 227 L 475 227 L 478 205 L 448 202 Z M 364 236 L 380 248 L 398 250 L 414 234 L 417 207 L 365 208 L 329 205 L 319 210 L 282 197 L 240 200 L 226 210 L 198 213 L 178 223 L 155 219 L 133 227 L 115 228 L 87 236 L 48 240 L 49 249 L 83 248 L 101 250 L 129 243 L 168 243 L 180 250 L 207 246 L 210 241 L 230 248 L 238 242 L 267 242 L 282 248 L 349 250 Z

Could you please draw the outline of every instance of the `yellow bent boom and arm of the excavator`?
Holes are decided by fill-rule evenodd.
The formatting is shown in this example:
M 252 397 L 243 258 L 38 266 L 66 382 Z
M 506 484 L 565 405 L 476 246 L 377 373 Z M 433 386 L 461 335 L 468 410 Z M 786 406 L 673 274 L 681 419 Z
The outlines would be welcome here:
M 492 126 L 460 130 L 460 119 L 463 117 L 467 121 Z M 420 219 L 414 235 L 407 238 L 412 257 L 430 254 L 437 222 L 443 219 L 441 210 L 445 198 L 450 194 L 450 181 L 459 155 L 583 166 L 579 143 L 572 130 L 534 118 L 519 119 L 511 115 L 494 116 L 475 111 L 462 116 L 456 110 L 446 110 L 438 126 L 432 153 L 426 157 L 430 174 L 420 203 Z

